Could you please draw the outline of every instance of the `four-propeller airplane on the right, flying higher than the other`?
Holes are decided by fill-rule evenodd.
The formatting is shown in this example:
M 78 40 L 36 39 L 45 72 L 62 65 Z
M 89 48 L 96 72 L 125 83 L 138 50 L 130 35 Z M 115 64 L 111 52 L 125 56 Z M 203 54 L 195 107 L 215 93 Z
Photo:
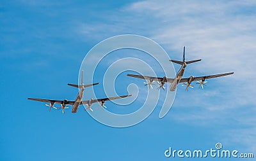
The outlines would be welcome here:
M 191 61 L 186 61 L 185 59 L 185 46 L 183 48 L 183 61 L 178 61 L 178 60 L 170 60 L 170 62 L 174 62 L 176 64 L 180 64 L 182 65 L 178 71 L 178 73 L 176 74 L 175 78 L 166 78 L 166 76 L 162 77 L 154 77 L 154 76 L 141 76 L 141 75 L 134 75 L 134 74 L 127 74 L 127 76 L 131 76 L 134 78 L 140 78 L 140 79 L 145 79 L 148 80 L 148 82 L 145 82 L 145 86 L 148 85 L 148 89 L 149 87 L 153 88 L 152 85 L 154 83 L 154 81 L 156 81 L 159 84 L 159 87 L 157 89 L 163 88 L 163 90 L 165 90 L 166 88 L 164 87 L 164 83 L 172 83 L 171 87 L 170 87 L 170 91 L 175 91 L 178 84 L 179 83 L 183 83 L 183 85 L 186 86 L 186 90 L 188 91 L 188 88 L 191 87 L 193 88 L 193 85 L 191 85 L 192 81 L 197 81 L 196 84 L 199 84 L 199 88 L 202 87 L 204 88 L 205 83 L 207 83 L 207 79 L 211 79 L 211 78 L 217 78 L 217 77 L 221 77 L 221 76 L 227 76 L 230 74 L 234 74 L 234 72 L 230 72 L 230 73 L 223 73 L 223 74 L 214 74 L 214 75 L 208 75 L 208 76 L 190 76 L 189 78 L 182 78 L 182 76 L 184 75 L 184 71 L 186 69 L 186 66 L 188 64 L 194 63 L 194 62 L 199 62 L 202 59 L 197 59 L 197 60 L 191 60 Z

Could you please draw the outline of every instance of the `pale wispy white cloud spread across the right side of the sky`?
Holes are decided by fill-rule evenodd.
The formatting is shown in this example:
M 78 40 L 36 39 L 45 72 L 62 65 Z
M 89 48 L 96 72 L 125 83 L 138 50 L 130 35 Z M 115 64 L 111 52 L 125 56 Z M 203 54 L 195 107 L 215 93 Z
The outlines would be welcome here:
M 187 112 L 172 119 L 220 125 L 224 120 L 241 118 L 237 120 L 238 127 L 228 122 L 227 131 L 239 138 L 248 132 L 248 138 L 252 139 L 256 120 L 247 118 L 255 117 L 256 106 L 253 90 L 256 88 L 255 8 L 255 1 L 140 1 L 108 12 L 102 16 L 102 22 L 81 23 L 76 31 L 92 39 L 99 39 L 100 34 L 100 38 L 141 34 L 157 41 L 175 59 L 181 57 L 182 46 L 186 45 L 188 60 L 203 60 L 189 65 L 185 75 L 234 71 L 232 76 L 216 78 L 214 83 L 209 81 L 209 90 L 193 92 L 191 97 L 179 90 L 175 104 Z M 203 107 L 201 115 L 195 110 L 198 106 Z M 243 111 L 243 115 L 239 111 Z M 244 132 L 239 132 L 241 130 Z M 255 143 L 244 141 L 244 144 L 253 147 Z

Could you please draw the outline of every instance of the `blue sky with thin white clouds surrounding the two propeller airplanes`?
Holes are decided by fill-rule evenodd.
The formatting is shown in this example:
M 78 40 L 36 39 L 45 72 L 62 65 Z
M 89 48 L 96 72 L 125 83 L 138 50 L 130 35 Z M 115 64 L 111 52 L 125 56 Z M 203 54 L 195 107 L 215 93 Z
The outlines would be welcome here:
M 218 142 L 256 153 L 255 9 L 253 1 L 2 1 L 0 160 L 173 160 L 163 154 L 169 146 L 207 150 Z M 204 90 L 179 85 L 163 119 L 157 106 L 145 121 L 122 129 L 100 124 L 82 108 L 62 115 L 27 100 L 75 99 L 77 89 L 67 83 L 77 83 L 84 56 L 118 34 L 151 38 L 177 60 L 186 45 L 187 59 L 202 62 L 189 65 L 184 76 L 235 74 L 209 80 Z M 118 79 L 118 94 L 127 94 L 122 82 L 147 90 L 143 80 Z M 95 90 L 105 97 L 101 85 Z

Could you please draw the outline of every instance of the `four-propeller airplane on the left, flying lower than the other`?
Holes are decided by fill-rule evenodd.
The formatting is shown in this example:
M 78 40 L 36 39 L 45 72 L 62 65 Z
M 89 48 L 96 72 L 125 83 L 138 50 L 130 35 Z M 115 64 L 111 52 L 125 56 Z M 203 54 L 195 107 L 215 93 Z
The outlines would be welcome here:
M 95 103 L 95 102 L 99 102 L 100 106 L 106 108 L 105 101 L 110 101 L 110 100 L 114 100 L 114 99 L 121 99 L 121 98 L 131 96 L 131 95 L 121 95 L 121 96 L 109 97 L 109 98 L 104 98 L 104 99 L 89 99 L 88 101 L 82 101 L 83 94 L 84 94 L 84 88 L 91 87 L 93 85 L 98 85 L 99 83 L 84 85 L 84 83 L 83 83 L 83 71 L 82 71 L 81 82 L 82 82 L 81 85 L 74 85 L 74 84 L 68 83 L 68 85 L 70 85 L 72 87 L 80 88 L 79 93 L 77 94 L 77 97 L 76 97 L 75 101 L 68 101 L 67 99 L 64 99 L 64 100 L 36 99 L 36 98 L 28 98 L 28 99 L 33 100 L 33 101 L 47 102 L 49 104 L 45 104 L 45 105 L 50 107 L 49 111 L 51 111 L 51 108 L 62 109 L 62 113 L 65 113 L 65 109 L 68 108 L 66 105 L 72 105 L 72 113 L 76 113 L 78 108 L 79 108 L 79 105 L 81 105 L 81 104 L 86 104 L 87 105 L 87 108 L 84 107 L 84 110 L 90 109 L 90 111 L 93 111 L 93 109 L 91 107 L 92 107 L 92 104 Z M 61 104 L 61 107 L 54 107 L 54 104 Z

